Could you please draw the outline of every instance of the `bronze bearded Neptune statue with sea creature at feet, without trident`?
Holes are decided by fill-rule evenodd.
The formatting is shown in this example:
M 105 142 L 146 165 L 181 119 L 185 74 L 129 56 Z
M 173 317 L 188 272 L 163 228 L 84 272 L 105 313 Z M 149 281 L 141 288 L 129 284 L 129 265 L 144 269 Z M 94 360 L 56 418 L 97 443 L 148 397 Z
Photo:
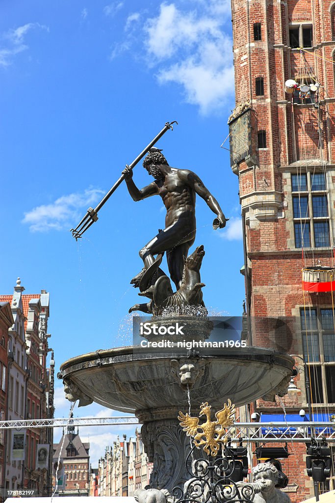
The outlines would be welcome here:
M 136 304 L 130 311 L 141 310 L 158 314 L 158 307 L 162 308 L 167 305 L 170 307 L 187 304 L 203 305 L 202 295 L 200 294 L 201 297 L 197 295 L 201 286 L 204 286 L 203 283 L 200 283 L 199 274 L 204 255 L 203 247 L 198 247 L 187 259 L 188 250 L 194 243 L 196 232 L 196 194 L 216 214 L 213 221 L 214 229 L 225 227 L 227 219 L 218 202 L 203 185 L 200 178 L 192 171 L 178 170 L 170 166 L 159 149 L 155 147 L 151 149 L 143 161 L 143 166 L 149 175 L 154 177 L 154 181 L 143 189 L 138 189 L 135 185 L 131 167 L 126 166 L 122 174 L 134 201 L 142 201 L 155 195 L 162 198 L 166 208 L 165 229 L 159 230 L 158 234 L 140 250 L 144 268 L 131 281 L 135 287 L 140 288 L 140 295 L 145 295 L 154 302 Z M 175 294 L 172 293 L 166 275 L 159 269 L 164 253 L 166 253 L 171 280 L 177 288 Z M 194 260 L 192 261 L 191 258 Z M 196 260 L 197 258 L 198 260 Z M 186 276 L 191 276 L 190 274 L 187 275 L 191 270 L 188 267 L 191 262 L 193 271 L 197 269 L 197 281 L 194 280 L 195 276 L 193 274 L 193 277 L 189 278 L 190 284 L 187 284 Z M 162 277 L 165 278 L 162 279 Z M 156 283 L 157 281 L 160 282 L 159 285 Z M 157 294 L 158 290 L 159 293 Z M 179 290 L 183 292 L 191 290 L 191 292 L 190 295 L 178 296 Z M 174 301 L 172 301 L 172 298 Z

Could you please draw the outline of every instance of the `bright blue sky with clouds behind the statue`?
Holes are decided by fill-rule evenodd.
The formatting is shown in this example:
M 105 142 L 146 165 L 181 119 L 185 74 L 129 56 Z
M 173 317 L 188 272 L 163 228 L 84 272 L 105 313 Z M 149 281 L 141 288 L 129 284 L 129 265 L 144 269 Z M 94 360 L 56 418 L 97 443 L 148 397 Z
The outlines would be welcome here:
M 138 296 L 129 281 L 142 268 L 139 249 L 164 224 L 160 198 L 135 203 L 122 184 L 81 241 L 69 229 L 166 121 L 179 122 L 158 144 L 168 162 L 197 173 L 230 218 L 214 231 L 198 198 L 204 301 L 212 313 L 240 315 L 238 179 L 220 148 L 234 108 L 230 2 L 3 0 L 0 14 L 0 291 L 12 293 L 20 276 L 26 293 L 50 292 L 57 370 L 131 340 L 127 313 Z M 142 164 L 134 180 L 150 182 Z M 66 415 L 60 387 L 56 398 L 56 416 Z M 75 410 L 84 414 L 110 411 Z M 94 459 L 118 433 L 99 432 L 90 433 Z

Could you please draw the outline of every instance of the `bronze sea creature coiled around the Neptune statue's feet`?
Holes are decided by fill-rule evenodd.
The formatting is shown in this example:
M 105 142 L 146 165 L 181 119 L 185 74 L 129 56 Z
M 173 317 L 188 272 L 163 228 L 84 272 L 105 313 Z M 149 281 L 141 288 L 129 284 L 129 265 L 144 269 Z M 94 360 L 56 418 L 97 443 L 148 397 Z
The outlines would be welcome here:
M 195 248 L 193 253 L 184 260 L 182 280 L 176 292 L 172 291 L 170 279 L 159 269 L 162 262 L 160 255 L 145 272 L 139 283 L 141 290 L 139 295 L 148 297 L 151 299 L 150 302 L 135 304 L 129 309 L 129 312 L 143 311 L 154 316 L 171 312 L 206 316 L 207 310 L 202 300 L 201 291 L 205 285 L 200 280 L 200 267 L 204 255 L 205 252 L 201 245 Z M 188 306 L 192 306 L 192 308 L 190 309 Z

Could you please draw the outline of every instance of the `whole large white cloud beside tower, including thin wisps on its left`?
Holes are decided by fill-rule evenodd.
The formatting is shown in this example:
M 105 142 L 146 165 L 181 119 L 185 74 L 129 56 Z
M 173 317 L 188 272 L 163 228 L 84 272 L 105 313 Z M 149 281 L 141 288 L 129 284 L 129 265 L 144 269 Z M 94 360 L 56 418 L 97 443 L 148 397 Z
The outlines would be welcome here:
M 120 4 L 106 6 L 105 14 L 114 15 Z M 126 35 L 113 46 L 111 60 L 130 50 L 138 57 L 142 41 L 140 58 L 154 69 L 158 83 L 180 86 L 184 100 L 202 114 L 233 102 L 233 42 L 225 32 L 230 0 L 163 2 L 156 16 L 145 16 L 145 10 L 128 16 Z

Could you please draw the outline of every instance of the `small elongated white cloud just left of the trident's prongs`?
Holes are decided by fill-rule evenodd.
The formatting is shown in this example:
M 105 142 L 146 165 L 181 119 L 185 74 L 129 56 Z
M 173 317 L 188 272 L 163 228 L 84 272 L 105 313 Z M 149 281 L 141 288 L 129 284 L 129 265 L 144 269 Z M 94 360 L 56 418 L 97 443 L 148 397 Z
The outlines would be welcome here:
M 23 223 L 32 232 L 68 229 L 80 215 L 82 208 L 94 204 L 104 194 L 100 189 L 86 189 L 83 193 L 61 196 L 54 203 L 37 206 L 25 213 Z

